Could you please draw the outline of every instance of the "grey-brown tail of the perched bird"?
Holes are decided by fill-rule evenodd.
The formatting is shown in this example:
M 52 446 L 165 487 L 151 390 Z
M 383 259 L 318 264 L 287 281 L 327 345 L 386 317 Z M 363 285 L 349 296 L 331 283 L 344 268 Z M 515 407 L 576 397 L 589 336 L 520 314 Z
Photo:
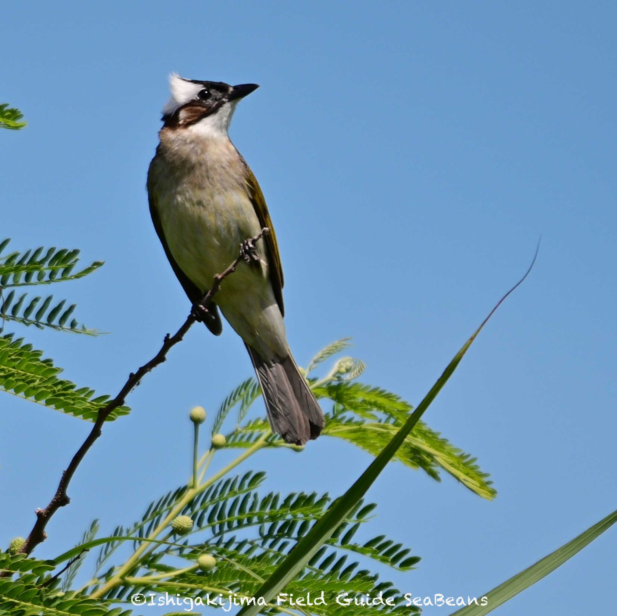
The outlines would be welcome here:
M 325 426 L 323 411 L 291 352 L 281 359 L 265 360 L 248 344 L 246 348 L 262 387 L 272 430 L 294 445 L 317 439 Z

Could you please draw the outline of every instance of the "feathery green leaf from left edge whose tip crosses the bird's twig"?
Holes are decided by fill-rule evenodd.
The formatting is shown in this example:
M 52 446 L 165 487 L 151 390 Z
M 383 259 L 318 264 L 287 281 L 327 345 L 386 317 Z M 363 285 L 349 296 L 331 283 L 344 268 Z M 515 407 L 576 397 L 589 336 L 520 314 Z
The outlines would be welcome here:
M 51 359 L 41 359 L 43 351 L 33 350 L 31 344 L 23 344 L 23 338 L 14 340 L 13 335 L 0 336 L 0 390 L 94 421 L 109 395 L 93 397 L 94 389 L 76 389 L 71 381 L 58 378 L 62 368 L 55 367 Z M 118 407 L 110 413 L 107 421 L 129 411 L 129 407 Z

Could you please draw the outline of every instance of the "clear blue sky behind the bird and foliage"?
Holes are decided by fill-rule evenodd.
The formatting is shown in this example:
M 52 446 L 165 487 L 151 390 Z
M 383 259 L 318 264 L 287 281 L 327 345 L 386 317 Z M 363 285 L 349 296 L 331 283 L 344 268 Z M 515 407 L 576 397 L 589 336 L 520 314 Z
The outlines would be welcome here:
M 479 596 L 615 509 L 615 6 L 112 0 L 2 11 L 0 99 L 29 126 L 0 135 L 0 235 L 106 261 L 54 292 L 109 335 L 22 332 L 67 378 L 116 392 L 186 314 L 144 190 L 167 74 L 259 83 L 231 136 L 276 226 L 300 365 L 353 336 L 363 380 L 418 403 L 542 235 L 531 277 L 426 415 L 478 456 L 499 495 L 489 503 L 450 477 L 391 465 L 369 493 L 379 515 L 365 532 L 387 528 L 423 560 L 384 578 L 422 596 Z M 189 408 L 212 416 L 250 374 L 229 326 L 221 338 L 191 330 L 131 394 L 131 415 L 106 426 L 36 554 L 64 551 L 94 517 L 102 533 L 131 522 L 182 482 Z M 89 425 L 6 394 L 1 405 L 7 543 L 28 532 Z M 370 461 L 326 438 L 284 455 L 250 466 L 272 489 L 333 495 Z M 615 538 L 498 613 L 607 613 Z

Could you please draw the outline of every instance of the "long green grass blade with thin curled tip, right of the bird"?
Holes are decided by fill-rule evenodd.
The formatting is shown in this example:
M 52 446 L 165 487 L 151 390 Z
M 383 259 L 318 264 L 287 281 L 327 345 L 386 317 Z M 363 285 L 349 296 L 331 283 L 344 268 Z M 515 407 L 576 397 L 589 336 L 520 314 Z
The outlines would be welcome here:
M 537 256 L 537 249 L 536 249 Z M 486 322 L 494 314 L 495 310 L 500 306 L 505 298 L 520 285 L 527 277 L 531 268 L 536 261 L 536 256 L 531 262 L 529 269 L 525 272 L 525 275 L 515 286 L 513 286 L 508 293 L 506 293 L 502 299 L 497 302 L 497 305 L 491 310 L 490 314 L 484 319 L 479 328 L 474 331 L 471 338 L 463 344 L 462 348 L 454 356 L 454 359 L 445 368 L 444 373 L 439 377 L 437 382 L 431 387 L 431 390 L 426 394 L 422 402 L 418 405 L 409 419 L 400 428 L 399 432 L 392 437 L 392 440 L 383 451 L 373 460 L 370 466 L 363 472 L 362 476 L 347 490 L 347 492 L 341 496 L 341 498 L 334 501 L 332 506 L 328 509 L 325 516 L 323 516 L 317 524 L 313 526 L 310 532 L 300 540 L 296 548 L 294 548 L 288 557 L 281 563 L 281 565 L 275 570 L 275 572 L 263 583 L 261 588 L 255 593 L 255 597 L 263 597 L 266 602 L 271 602 L 272 599 L 280 593 L 285 586 L 291 582 L 301 571 L 304 569 L 307 562 L 317 553 L 318 549 L 328 541 L 339 524 L 349 516 L 350 512 L 354 509 L 358 501 L 366 494 L 368 488 L 373 485 L 373 482 L 379 476 L 379 473 L 383 471 L 386 464 L 396 453 L 396 450 L 403 444 L 405 437 L 413 430 L 413 427 L 418 422 L 418 419 L 424 414 L 424 411 L 431 405 L 431 402 L 436 398 L 437 394 L 441 391 L 442 387 L 447 383 L 452 373 L 457 369 L 458 364 L 463 359 L 463 355 L 467 352 L 471 343 L 476 336 L 482 330 L 482 327 L 486 325 Z M 239 612 L 238 616 L 256 616 L 259 614 L 259 606 L 244 606 Z

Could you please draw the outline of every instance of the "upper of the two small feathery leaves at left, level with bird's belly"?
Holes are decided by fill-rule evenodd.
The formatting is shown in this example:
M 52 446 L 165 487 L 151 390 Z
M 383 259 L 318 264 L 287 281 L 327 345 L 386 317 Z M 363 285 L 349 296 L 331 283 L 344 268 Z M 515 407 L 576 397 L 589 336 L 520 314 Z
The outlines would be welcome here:
M 80 251 L 68 248 L 44 248 L 39 246 L 25 253 L 15 251 L 2 254 L 9 245 L 10 238 L 0 242 L 0 286 L 49 285 L 83 278 L 101 267 L 104 261 L 94 261 L 84 269 L 73 273 L 80 261 Z

